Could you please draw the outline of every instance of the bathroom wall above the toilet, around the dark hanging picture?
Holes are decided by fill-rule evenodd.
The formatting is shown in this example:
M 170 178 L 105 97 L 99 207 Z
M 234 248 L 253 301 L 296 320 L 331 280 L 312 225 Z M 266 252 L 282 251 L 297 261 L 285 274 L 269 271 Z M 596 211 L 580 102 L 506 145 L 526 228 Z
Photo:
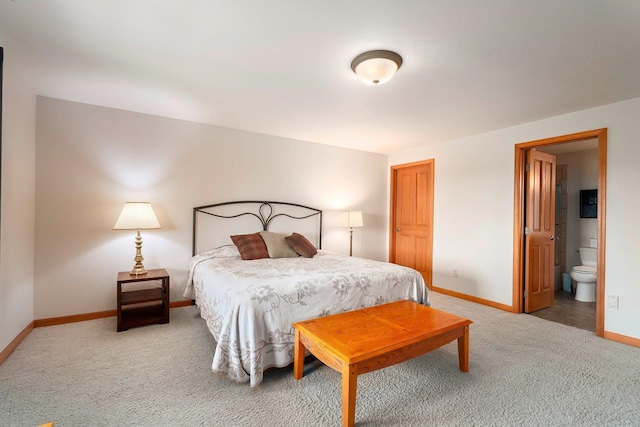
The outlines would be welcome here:
M 580 190 L 598 188 L 598 150 L 577 151 L 556 156 L 558 165 L 567 165 L 567 271 L 580 265 L 578 248 L 589 246 L 598 237 L 598 219 L 580 218 Z

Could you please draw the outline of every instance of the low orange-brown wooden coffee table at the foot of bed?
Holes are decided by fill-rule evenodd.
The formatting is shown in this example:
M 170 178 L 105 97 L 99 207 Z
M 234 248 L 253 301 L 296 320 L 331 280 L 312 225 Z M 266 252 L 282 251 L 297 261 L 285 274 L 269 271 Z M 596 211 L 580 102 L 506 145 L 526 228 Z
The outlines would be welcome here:
M 412 301 L 396 301 L 293 324 L 293 377 L 302 378 L 305 348 L 342 373 L 342 425 L 353 426 L 357 377 L 458 339 L 460 370 L 469 370 L 471 320 Z

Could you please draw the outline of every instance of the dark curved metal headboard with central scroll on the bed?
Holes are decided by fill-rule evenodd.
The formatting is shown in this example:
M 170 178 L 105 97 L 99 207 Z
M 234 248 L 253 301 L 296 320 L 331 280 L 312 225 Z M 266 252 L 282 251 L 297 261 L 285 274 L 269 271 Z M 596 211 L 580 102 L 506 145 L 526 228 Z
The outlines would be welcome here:
M 234 212 L 225 214 L 215 212 L 217 208 L 229 207 L 232 205 L 254 205 L 256 209 L 249 212 Z M 286 207 L 294 208 L 298 212 L 296 214 L 288 213 L 286 212 Z M 234 219 L 247 216 L 255 217 L 258 221 L 260 221 L 262 229 L 265 231 L 269 229 L 269 225 L 273 222 L 273 220 L 279 217 L 286 217 L 293 220 L 304 220 L 318 216 L 318 249 L 322 249 L 322 210 L 300 205 L 297 203 L 238 200 L 233 202 L 215 203 L 212 205 L 198 206 L 193 208 L 193 234 L 191 247 L 192 255 L 196 255 L 199 215 L 208 215 L 222 219 Z

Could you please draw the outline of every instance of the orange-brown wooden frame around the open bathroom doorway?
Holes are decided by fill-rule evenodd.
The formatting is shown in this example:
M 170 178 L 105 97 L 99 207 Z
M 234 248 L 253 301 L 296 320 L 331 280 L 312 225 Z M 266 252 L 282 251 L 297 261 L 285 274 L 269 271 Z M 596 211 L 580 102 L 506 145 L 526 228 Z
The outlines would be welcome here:
M 595 129 L 554 138 L 523 142 L 515 146 L 514 206 L 513 206 L 513 304 L 515 313 L 524 309 L 524 200 L 526 151 L 546 145 L 598 139 L 598 282 L 596 291 L 596 335 L 604 337 L 604 290 L 606 249 L 607 194 L 607 129 Z

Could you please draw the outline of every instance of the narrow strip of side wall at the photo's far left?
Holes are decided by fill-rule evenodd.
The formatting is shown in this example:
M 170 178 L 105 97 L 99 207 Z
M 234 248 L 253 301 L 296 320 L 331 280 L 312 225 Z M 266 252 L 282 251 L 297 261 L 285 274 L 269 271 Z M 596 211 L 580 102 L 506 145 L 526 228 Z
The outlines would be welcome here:
M 0 35 L 0 45 L 3 38 Z M 36 97 L 5 45 L 0 213 L 0 351 L 33 320 Z

